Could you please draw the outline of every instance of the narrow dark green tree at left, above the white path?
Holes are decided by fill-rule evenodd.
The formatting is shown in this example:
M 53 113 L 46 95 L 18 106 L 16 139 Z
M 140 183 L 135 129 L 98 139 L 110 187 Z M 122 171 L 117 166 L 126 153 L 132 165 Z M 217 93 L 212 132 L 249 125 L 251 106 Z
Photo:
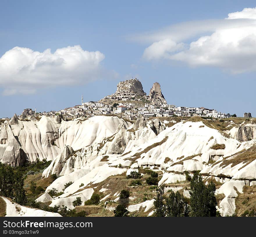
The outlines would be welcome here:
M 13 185 L 13 198 L 16 203 L 20 205 L 26 205 L 27 196 L 24 189 L 24 178 L 22 172 L 18 171 L 14 175 L 14 185 Z

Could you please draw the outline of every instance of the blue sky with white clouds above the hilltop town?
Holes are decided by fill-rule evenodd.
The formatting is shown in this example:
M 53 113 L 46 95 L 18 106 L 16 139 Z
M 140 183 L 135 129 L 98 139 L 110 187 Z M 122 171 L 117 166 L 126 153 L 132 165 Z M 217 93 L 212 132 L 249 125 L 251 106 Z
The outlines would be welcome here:
M 147 94 L 158 81 L 170 104 L 256 116 L 255 6 L 255 1 L 1 1 L 0 118 L 24 108 L 74 106 L 82 94 L 84 101 L 96 101 L 131 77 Z M 228 16 L 232 12 L 240 13 Z M 231 28 L 236 32 L 229 40 L 235 39 L 236 47 L 225 40 Z M 205 36 L 203 45 L 192 47 Z M 67 48 L 74 45 L 80 45 L 79 60 Z M 31 59 L 33 51 L 49 48 L 50 53 L 38 53 L 40 62 Z M 53 54 L 61 48 L 60 59 Z

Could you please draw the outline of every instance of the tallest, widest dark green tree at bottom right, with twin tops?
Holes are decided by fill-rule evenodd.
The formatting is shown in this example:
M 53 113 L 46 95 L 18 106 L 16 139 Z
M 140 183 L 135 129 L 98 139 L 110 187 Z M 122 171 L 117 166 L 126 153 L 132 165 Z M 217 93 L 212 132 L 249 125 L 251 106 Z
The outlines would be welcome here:
M 190 182 L 191 216 L 216 216 L 216 187 L 213 182 L 205 185 L 199 172 L 193 175 Z

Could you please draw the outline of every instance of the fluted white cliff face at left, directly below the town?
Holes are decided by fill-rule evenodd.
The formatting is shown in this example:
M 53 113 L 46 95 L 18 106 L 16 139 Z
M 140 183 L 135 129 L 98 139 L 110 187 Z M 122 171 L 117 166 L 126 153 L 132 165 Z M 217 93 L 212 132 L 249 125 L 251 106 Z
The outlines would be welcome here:
M 113 135 L 119 125 L 131 124 L 113 116 L 95 116 L 85 121 L 64 121 L 61 116 L 42 116 L 40 121 L 21 121 L 15 115 L 0 127 L 1 162 L 13 166 L 24 162 L 53 160 L 65 145 L 79 150 Z

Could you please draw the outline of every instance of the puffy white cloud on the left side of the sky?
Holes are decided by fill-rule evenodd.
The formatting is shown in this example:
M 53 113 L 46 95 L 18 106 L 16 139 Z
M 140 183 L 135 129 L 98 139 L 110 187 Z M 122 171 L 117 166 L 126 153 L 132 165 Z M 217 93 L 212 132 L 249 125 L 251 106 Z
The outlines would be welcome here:
M 107 74 L 101 66 L 104 54 L 89 52 L 80 45 L 44 52 L 14 47 L 0 58 L 0 87 L 3 95 L 31 94 L 39 88 L 82 85 Z

